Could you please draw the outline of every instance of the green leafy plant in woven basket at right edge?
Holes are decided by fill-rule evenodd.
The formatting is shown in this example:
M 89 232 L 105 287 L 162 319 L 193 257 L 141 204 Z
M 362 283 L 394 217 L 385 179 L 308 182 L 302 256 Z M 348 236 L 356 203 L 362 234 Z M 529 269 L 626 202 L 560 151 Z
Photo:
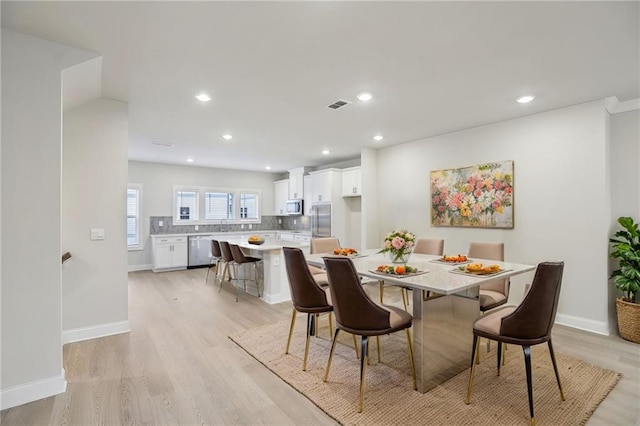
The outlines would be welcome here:
M 630 217 L 618 218 L 624 229 L 615 233 L 609 242 L 613 244 L 611 257 L 619 261 L 618 269 L 611 273 L 615 286 L 624 292 L 616 299 L 618 331 L 620 337 L 640 343 L 640 231 Z

